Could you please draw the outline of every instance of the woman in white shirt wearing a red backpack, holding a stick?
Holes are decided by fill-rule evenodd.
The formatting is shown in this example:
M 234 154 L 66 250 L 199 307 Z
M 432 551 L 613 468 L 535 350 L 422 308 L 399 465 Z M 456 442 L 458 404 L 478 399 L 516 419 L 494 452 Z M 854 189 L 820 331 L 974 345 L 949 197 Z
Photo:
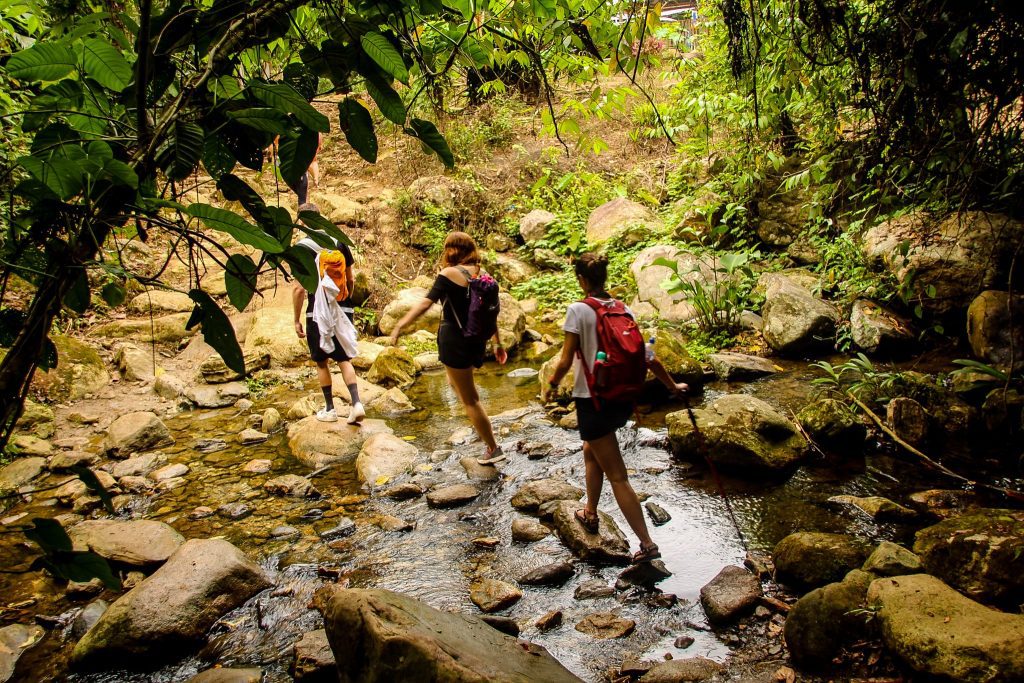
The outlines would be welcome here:
M 630 528 L 640 539 L 640 551 L 633 555 L 633 562 L 647 562 L 660 557 L 662 553 L 650 538 L 640 500 L 630 485 L 615 430 L 625 426 L 633 415 L 635 397 L 643 386 L 647 370 L 675 394 L 682 393 L 689 387 L 673 380 L 656 358 L 645 357 L 643 337 L 633 319 L 632 311 L 605 291 L 607 257 L 583 254 L 575 261 L 575 275 L 580 289 L 587 298 L 570 304 L 565 313 L 565 324 L 562 326 L 565 343 L 548 386 L 544 388 L 543 398 L 548 399 L 558 388 L 565 373 L 572 368 L 575 376 L 572 397 L 587 468 L 587 503 L 575 511 L 577 520 L 588 531 L 598 531 L 600 518 L 597 503 L 601 498 L 604 478 L 607 477 L 618 509 L 623 511 Z M 601 319 L 604 321 L 601 323 L 605 326 L 603 331 L 598 330 L 598 311 L 601 311 Z M 610 348 L 604 348 L 601 340 L 609 332 L 630 338 L 631 345 L 628 345 L 627 352 L 620 349 L 616 353 Z M 608 386 L 603 389 L 598 376 L 601 368 L 598 366 L 595 369 L 599 352 L 602 360 L 608 357 L 608 370 L 612 377 Z M 617 357 L 612 359 L 612 353 Z M 584 362 L 587 364 L 586 367 Z M 602 393 L 613 397 L 605 397 Z

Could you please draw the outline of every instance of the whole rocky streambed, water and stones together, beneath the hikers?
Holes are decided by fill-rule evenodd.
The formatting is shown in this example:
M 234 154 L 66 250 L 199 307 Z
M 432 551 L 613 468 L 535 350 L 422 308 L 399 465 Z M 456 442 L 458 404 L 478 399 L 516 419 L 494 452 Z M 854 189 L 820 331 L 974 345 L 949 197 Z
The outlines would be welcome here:
M 872 447 L 866 457 L 819 456 L 795 472 L 783 468 L 784 475 L 734 477 L 726 469 L 722 485 L 736 527 L 712 472 L 700 462 L 672 457 L 670 441 L 685 452 L 686 435 L 666 430 L 666 414 L 681 407 L 665 404 L 641 414 L 636 426 L 620 433 L 634 486 L 665 554 L 663 564 L 624 573 L 627 543 L 635 548 L 636 540 L 610 492 L 602 499 L 607 515 L 602 533 L 583 533 L 569 518 L 573 504 L 565 502 L 582 496 L 577 433 L 559 426 L 565 417 L 536 402 L 538 384 L 530 369 L 514 370 L 489 367 L 481 376 L 481 394 L 511 456 L 497 469 L 472 461 L 481 446 L 439 373 L 424 374 L 407 389 L 410 412 L 371 420 L 358 430 L 301 417 L 307 393 L 300 387 L 308 377 L 269 391 L 252 405 L 180 413 L 161 423 L 166 433 L 157 425 L 135 425 L 130 435 L 144 445 L 133 447 L 143 455 L 93 463 L 117 487 L 118 519 L 132 526 L 110 531 L 79 524 L 78 533 L 88 531 L 86 543 L 103 548 L 129 585 L 138 586 L 144 574 L 164 572 L 172 579 L 157 586 L 146 580 L 123 596 L 95 584 L 60 584 L 39 572 L 4 574 L 5 624 L 23 625 L 17 633 L 5 632 L 11 635 L 5 647 L 20 654 L 8 658 L 16 659 L 13 678 L 181 681 L 209 670 L 203 680 L 259 680 L 252 678 L 259 672 L 267 681 L 325 675 L 334 680 L 325 674 L 333 667 L 330 638 L 334 652 L 344 651 L 351 659 L 352 680 L 396 680 L 401 672 L 375 659 L 367 644 L 378 642 L 375 638 L 386 630 L 378 625 L 377 635 L 371 633 L 358 616 L 371 612 L 418 614 L 440 634 L 441 649 L 497 638 L 489 645 L 495 656 L 513 656 L 529 651 L 530 643 L 541 645 L 557 663 L 544 659 L 543 666 L 551 668 L 534 680 L 556 680 L 569 672 L 588 681 L 623 676 L 773 680 L 786 676 L 794 664 L 813 671 L 822 661 L 839 666 L 844 677 L 921 668 L 921 642 L 893 635 L 883 648 L 869 628 L 833 627 L 867 609 L 885 629 L 902 634 L 906 629 L 900 631 L 899 624 L 924 609 L 907 606 L 899 579 L 892 580 L 896 586 L 879 582 L 921 571 L 922 558 L 905 548 L 914 547 L 915 532 L 935 521 L 922 512 L 928 506 L 929 514 L 959 518 L 950 505 L 963 504 L 963 496 L 913 495 L 948 481 Z M 750 401 L 765 401 L 778 420 L 811 401 L 811 369 L 783 362 L 775 370 L 758 380 L 709 385 L 694 401 L 701 409 L 699 420 L 710 423 L 705 430 L 713 433 L 723 413 L 760 404 Z M 730 408 L 737 395 L 745 398 Z M 776 418 L 757 415 L 743 423 L 744 433 L 761 434 L 771 449 L 782 449 L 790 436 L 772 426 Z M 673 420 L 670 416 L 670 425 Z M 55 458 L 109 449 L 111 427 L 99 432 L 85 425 L 54 435 L 57 451 L 40 456 L 40 472 L 26 485 L 42 488 L 69 478 L 59 471 L 46 474 L 43 465 L 54 470 Z M 728 435 L 721 438 L 722 453 L 745 453 L 730 445 Z M 4 524 L 76 513 L 104 517 L 94 512 L 94 503 L 82 501 L 87 492 L 74 483 L 65 486 L 70 488 L 41 492 L 10 507 Z M 1019 525 L 1013 513 L 1002 515 L 1002 521 L 990 513 L 976 517 L 971 522 L 975 536 L 987 539 L 996 538 L 993 528 L 999 524 Z M 143 519 L 167 526 L 129 521 Z M 75 538 L 78 520 L 66 521 L 72 522 Z M 945 532 L 926 533 L 925 541 L 918 533 L 916 549 L 924 551 L 928 570 L 983 603 L 1005 605 L 1015 599 L 1021 574 L 1015 579 L 1012 566 L 1020 555 L 1004 557 L 1000 544 L 983 540 L 970 549 L 945 543 L 963 536 L 964 524 L 944 523 L 949 525 Z M 1007 536 L 1013 533 L 1009 529 Z M 1020 543 L 1019 533 L 1014 538 L 1008 547 Z M 877 557 L 880 542 L 904 549 L 890 543 Z M 0 543 L 12 565 L 34 555 L 19 533 L 0 536 Z M 950 559 L 966 553 L 991 561 L 964 568 Z M 197 563 L 209 565 L 199 572 L 205 577 L 199 584 L 183 578 L 195 578 L 195 571 L 181 569 Z M 938 603 L 963 597 L 938 580 L 914 581 L 922 584 L 914 584 L 915 591 L 927 589 Z M 873 596 L 874 606 L 866 595 Z M 970 604 L 949 602 L 950 610 L 958 610 L 965 623 L 984 624 L 986 614 L 975 606 L 988 608 L 963 600 Z M 121 606 L 109 607 L 99 617 L 105 603 Z M 515 633 L 518 640 L 451 622 L 443 613 L 485 616 L 494 629 Z M 1010 620 L 1002 633 L 1017 633 L 1013 620 L 1021 617 L 992 614 Z M 100 626 L 87 633 L 97 618 Z M 354 632 L 353 624 L 364 624 L 366 633 Z M 940 628 L 944 624 L 939 620 Z M 987 627 L 974 631 L 979 629 Z M 994 667 L 997 676 L 991 680 L 1012 680 L 1002 670 L 1012 673 L 1007 667 L 1016 666 L 1019 654 L 999 654 L 1005 640 L 970 644 L 972 651 L 995 652 L 990 659 L 975 656 L 977 661 L 964 665 L 958 653 L 947 653 L 954 663 L 948 671 Z M 484 669 L 493 665 L 479 648 L 464 655 Z M 143 672 L 121 666 L 140 660 Z M 438 660 L 429 666 L 454 666 Z M 94 671 L 82 671 L 83 666 Z M 528 673 L 534 665 L 523 666 Z

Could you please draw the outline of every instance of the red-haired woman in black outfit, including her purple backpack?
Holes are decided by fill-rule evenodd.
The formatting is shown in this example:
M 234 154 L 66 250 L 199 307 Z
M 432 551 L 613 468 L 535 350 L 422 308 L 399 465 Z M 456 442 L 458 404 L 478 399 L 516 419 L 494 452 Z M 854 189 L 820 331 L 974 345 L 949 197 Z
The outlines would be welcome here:
M 398 343 L 401 330 L 441 302 L 441 325 L 437 329 L 437 355 L 447 373 L 466 416 L 486 446 L 477 460 L 495 465 L 505 460 L 495 440 L 490 419 L 480 403 L 473 370 L 483 365 L 487 341 L 495 340 L 495 358 L 505 365 L 508 352 L 498 335 L 498 284 L 480 268 L 480 255 L 473 238 L 451 232 L 444 239 L 442 269 L 424 299 L 413 306 L 391 331 L 391 343 Z

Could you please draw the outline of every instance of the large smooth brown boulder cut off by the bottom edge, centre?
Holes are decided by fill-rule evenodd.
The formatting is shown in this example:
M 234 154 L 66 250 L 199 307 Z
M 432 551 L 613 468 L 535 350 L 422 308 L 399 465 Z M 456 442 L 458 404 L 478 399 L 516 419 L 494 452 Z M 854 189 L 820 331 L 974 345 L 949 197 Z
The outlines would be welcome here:
M 399 593 L 325 590 L 324 626 L 340 683 L 578 682 L 543 647 L 469 614 L 442 612 Z

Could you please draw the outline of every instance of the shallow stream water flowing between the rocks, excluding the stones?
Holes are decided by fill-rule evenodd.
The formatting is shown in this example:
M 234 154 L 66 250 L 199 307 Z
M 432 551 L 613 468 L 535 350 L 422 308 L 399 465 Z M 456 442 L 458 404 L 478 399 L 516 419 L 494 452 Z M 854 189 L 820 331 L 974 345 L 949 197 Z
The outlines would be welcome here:
M 32 672 L 33 680 L 68 677 L 67 680 L 95 683 L 182 681 L 216 661 L 222 666 L 261 666 L 267 681 L 291 680 L 292 645 L 303 633 L 322 627 L 319 614 L 311 604 L 316 589 L 326 583 L 337 580 L 351 587 L 390 589 L 422 598 L 441 609 L 478 613 L 469 600 L 468 590 L 475 578 L 487 575 L 514 584 L 527 570 L 571 559 L 555 537 L 530 545 L 511 541 L 511 522 L 520 513 L 512 509 L 509 500 L 520 485 L 531 479 L 556 476 L 583 487 L 584 475 L 577 433 L 554 426 L 537 402 L 536 379 L 513 380 L 506 376 L 512 369 L 488 366 L 479 382 L 484 404 L 493 416 L 498 416 L 496 431 L 510 459 L 500 466 L 498 480 L 478 482 L 483 493 L 476 501 L 454 510 L 428 508 L 423 498 L 401 503 L 368 498 L 367 492 L 360 489 L 352 463 L 315 474 L 313 481 L 325 495 L 321 500 L 270 497 L 262 489 L 266 479 L 286 473 L 309 474 L 291 455 L 284 433 L 262 444 L 234 445 L 233 435 L 247 424 L 246 416 L 231 409 L 184 413 L 168 421 L 177 440 L 164 453 L 172 463 L 189 466 L 187 483 L 153 498 L 146 508 L 135 513 L 166 521 L 186 538 L 224 537 L 276 570 L 278 587 L 225 616 L 199 654 L 157 673 L 112 671 L 69 676 L 66 657 L 72 642 L 62 642 L 58 629 L 42 645 L 26 653 L 18 673 Z M 786 372 L 757 382 L 710 385 L 700 397 L 694 398 L 694 407 L 723 392 L 738 391 L 757 395 L 788 414 L 810 399 L 809 381 L 814 376 L 814 371 L 805 365 L 788 365 Z M 422 376 L 408 393 L 420 410 L 389 420 L 389 424 L 397 435 L 410 437 L 421 450 L 421 464 L 409 476 L 426 484 L 424 487 L 440 482 L 465 482 L 466 474 L 459 459 L 480 455 L 482 446 L 478 442 L 452 443 L 453 435 L 467 433 L 468 423 L 443 373 Z M 274 405 L 284 414 L 302 395 L 279 390 L 257 401 L 256 408 Z M 639 425 L 620 432 L 634 487 L 672 515 L 666 525 L 652 527 L 652 533 L 663 550 L 666 565 L 673 571 L 659 588 L 678 596 L 678 604 L 651 607 L 645 603 L 645 596 L 630 593 L 620 594 L 617 599 L 578 601 L 573 591 L 580 583 L 599 578 L 613 584 L 618 571 L 615 567 L 578 563 L 577 575 L 567 584 L 559 588 L 524 588 L 524 597 L 506 612 L 522 627 L 522 638 L 543 644 L 585 680 L 603 680 L 609 668 L 627 657 L 660 658 L 672 653 L 677 657 L 699 654 L 725 660 L 730 654 L 730 643 L 708 629 L 698 593 L 724 565 L 741 563 L 748 548 L 730 520 L 715 478 L 702 465 L 675 462 L 668 453 L 663 418 L 666 411 L 680 408 L 680 404 L 664 405 L 640 416 Z M 204 438 L 223 438 L 231 445 L 203 455 L 195 446 Z M 525 441 L 551 443 L 555 455 L 541 460 L 516 455 L 516 444 Z M 445 455 L 444 451 L 451 453 Z M 431 456 L 437 462 L 431 462 Z M 247 462 L 258 458 L 273 461 L 270 472 L 243 472 Z M 826 499 L 837 494 L 852 494 L 886 496 L 899 501 L 911 490 L 948 483 L 930 481 L 921 468 L 884 455 L 804 467 L 784 482 L 742 482 L 728 477 L 723 477 L 723 481 L 742 538 L 754 551 L 770 551 L 782 537 L 797 530 L 847 531 L 905 542 L 909 531 L 904 527 L 878 524 L 865 516 L 838 511 L 825 503 Z M 228 502 L 244 503 L 252 513 L 238 520 L 219 515 L 189 518 L 199 506 L 216 509 Z M 33 503 L 39 507 L 46 505 L 42 497 Z M 636 539 L 628 532 L 607 486 L 601 508 L 627 532 L 635 549 Z M 32 512 L 46 514 L 40 510 Z M 55 514 L 52 508 L 49 514 Z M 384 531 L 374 523 L 381 514 L 413 521 L 416 528 L 408 532 Z M 316 535 L 343 516 L 355 521 L 356 531 L 329 547 Z M 282 526 L 292 526 L 297 532 L 275 538 L 275 533 L 283 532 Z M 481 548 L 473 544 L 480 537 L 498 538 L 500 543 L 494 549 Z M 8 541 L 4 543 L 15 553 L 27 550 L 11 546 Z M 0 604 L 45 593 L 47 589 L 41 585 L 48 580 L 38 574 L 32 577 L 4 577 L 0 583 Z M 50 590 L 59 593 L 59 589 Z M 46 607 L 39 605 L 33 609 L 45 611 Z M 67 610 L 68 606 L 54 603 L 52 608 L 55 613 Z M 563 611 L 562 626 L 541 633 L 534 623 L 553 609 Z M 572 628 L 586 614 L 607 610 L 635 620 L 634 635 L 601 641 Z M 674 641 L 680 635 L 689 635 L 695 642 L 685 650 L 676 649 Z M 778 647 L 766 651 L 765 657 L 778 654 Z

